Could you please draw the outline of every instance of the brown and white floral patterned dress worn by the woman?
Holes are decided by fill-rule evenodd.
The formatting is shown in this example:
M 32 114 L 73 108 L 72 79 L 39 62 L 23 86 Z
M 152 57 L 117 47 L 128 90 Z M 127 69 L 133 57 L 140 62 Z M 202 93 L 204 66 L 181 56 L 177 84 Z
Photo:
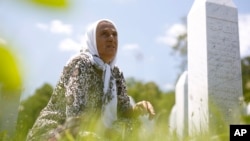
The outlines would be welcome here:
M 126 92 L 125 79 L 116 66 L 112 69 L 111 79 L 116 80 L 117 86 L 117 123 L 122 120 L 132 121 L 129 114 L 132 106 Z M 46 140 L 63 129 L 78 126 L 78 123 L 67 123 L 71 118 L 80 117 L 89 123 L 88 120 L 101 115 L 103 95 L 102 70 L 93 65 L 87 55 L 77 55 L 64 67 L 50 101 L 29 131 L 27 140 Z M 114 127 L 117 125 L 114 124 Z

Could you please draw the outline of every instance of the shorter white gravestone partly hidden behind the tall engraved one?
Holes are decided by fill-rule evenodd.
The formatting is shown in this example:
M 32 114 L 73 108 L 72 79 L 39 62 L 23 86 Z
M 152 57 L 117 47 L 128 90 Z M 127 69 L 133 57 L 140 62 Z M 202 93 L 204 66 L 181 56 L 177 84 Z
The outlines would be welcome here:
M 188 122 L 188 86 L 187 71 L 183 72 L 176 83 L 175 106 L 176 106 L 176 134 L 183 138 L 187 135 Z

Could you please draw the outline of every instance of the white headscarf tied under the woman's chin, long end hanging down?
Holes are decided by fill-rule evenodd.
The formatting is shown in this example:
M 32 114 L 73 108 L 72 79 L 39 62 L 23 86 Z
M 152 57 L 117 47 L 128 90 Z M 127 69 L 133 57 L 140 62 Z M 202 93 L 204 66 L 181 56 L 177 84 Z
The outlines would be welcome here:
M 96 28 L 101 21 L 108 21 L 114 25 L 115 24 L 108 19 L 101 19 L 92 24 L 85 34 L 85 51 L 83 53 L 87 54 L 90 57 L 90 60 L 93 64 L 97 65 L 100 69 L 103 70 L 103 98 L 102 98 L 102 121 L 104 125 L 109 128 L 112 126 L 112 123 L 117 119 L 117 90 L 116 90 L 116 81 L 115 79 L 111 80 L 111 71 L 115 66 L 116 55 L 114 59 L 109 63 L 105 63 L 99 56 L 97 45 L 96 45 Z M 110 88 L 110 83 L 112 88 Z M 112 97 L 108 101 L 108 97 Z

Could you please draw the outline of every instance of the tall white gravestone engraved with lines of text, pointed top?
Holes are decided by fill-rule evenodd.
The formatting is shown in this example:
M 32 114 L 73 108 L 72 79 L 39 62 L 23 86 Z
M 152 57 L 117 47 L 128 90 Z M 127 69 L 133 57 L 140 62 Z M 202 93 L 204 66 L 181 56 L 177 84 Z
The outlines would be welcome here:
M 227 124 L 239 122 L 242 76 L 236 6 L 231 0 L 195 0 L 187 35 L 189 134 L 209 131 L 216 118 L 212 105 Z

